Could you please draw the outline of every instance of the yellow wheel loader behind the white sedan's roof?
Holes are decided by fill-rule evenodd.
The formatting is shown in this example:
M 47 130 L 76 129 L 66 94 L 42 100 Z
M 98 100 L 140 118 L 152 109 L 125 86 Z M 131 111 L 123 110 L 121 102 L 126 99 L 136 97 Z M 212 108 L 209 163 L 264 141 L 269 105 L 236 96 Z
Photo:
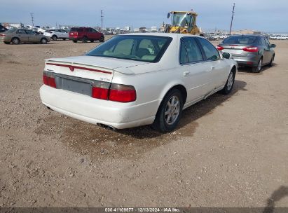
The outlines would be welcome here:
M 165 32 L 179 34 L 200 34 L 196 25 L 197 13 L 193 11 L 171 11 L 167 18 L 171 17 L 171 25 L 166 25 Z

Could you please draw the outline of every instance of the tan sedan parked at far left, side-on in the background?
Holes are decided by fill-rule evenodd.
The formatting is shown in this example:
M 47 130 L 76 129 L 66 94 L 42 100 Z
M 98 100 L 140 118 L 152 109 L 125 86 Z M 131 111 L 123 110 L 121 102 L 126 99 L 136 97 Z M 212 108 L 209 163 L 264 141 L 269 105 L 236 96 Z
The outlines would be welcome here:
M 50 38 L 42 34 L 37 34 L 29 29 L 9 29 L 0 34 L 0 41 L 4 43 L 42 43 L 46 44 Z

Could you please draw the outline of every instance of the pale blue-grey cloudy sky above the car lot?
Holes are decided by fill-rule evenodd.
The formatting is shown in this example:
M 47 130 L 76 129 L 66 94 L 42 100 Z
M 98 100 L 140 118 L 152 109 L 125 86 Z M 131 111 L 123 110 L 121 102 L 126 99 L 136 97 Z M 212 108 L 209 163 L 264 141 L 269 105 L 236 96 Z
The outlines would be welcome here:
M 159 27 L 169 11 L 196 11 L 202 29 L 230 28 L 235 3 L 233 29 L 261 32 L 288 32 L 287 0 L 0 0 L 0 22 L 103 27 Z

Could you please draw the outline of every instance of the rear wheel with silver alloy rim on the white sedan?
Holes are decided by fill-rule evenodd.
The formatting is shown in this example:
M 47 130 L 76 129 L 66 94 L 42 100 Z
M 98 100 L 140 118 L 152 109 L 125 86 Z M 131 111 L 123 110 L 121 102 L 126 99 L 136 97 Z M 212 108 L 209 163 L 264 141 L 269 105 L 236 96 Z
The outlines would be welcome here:
M 183 96 L 177 89 L 165 95 L 157 111 L 152 127 L 159 132 L 170 132 L 177 127 L 182 115 Z

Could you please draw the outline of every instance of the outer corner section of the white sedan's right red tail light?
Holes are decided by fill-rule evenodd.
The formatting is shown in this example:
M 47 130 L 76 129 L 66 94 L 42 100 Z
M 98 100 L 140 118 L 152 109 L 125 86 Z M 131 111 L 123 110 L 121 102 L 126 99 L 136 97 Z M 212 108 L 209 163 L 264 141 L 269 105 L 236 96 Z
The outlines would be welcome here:
M 134 102 L 136 90 L 132 85 L 111 84 L 109 100 L 114 102 Z

